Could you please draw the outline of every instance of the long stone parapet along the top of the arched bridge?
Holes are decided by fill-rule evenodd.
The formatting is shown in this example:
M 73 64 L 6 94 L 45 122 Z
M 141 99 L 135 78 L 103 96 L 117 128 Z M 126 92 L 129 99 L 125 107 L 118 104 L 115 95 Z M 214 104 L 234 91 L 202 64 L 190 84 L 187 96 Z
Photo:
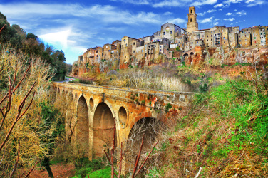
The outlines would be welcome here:
M 153 101 L 156 98 L 157 103 L 172 105 L 187 105 L 190 103 L 196 93 L 149 90 L 140 88 L 124 88 L 115 86 L 85 85 L 73 83 L 53 83 L 56 88 L 62 88 L 67 91 L 80 91 L 82 93 L 92 93 L 105 98 L 122 100 L 128 103 L 143 103 L 146 100 Z M 138 99 L 138 100 L 137 100 Z M 143 103 L 144 104 L 144 103 Z M 147 103 L 148 106 L 149 103 Z

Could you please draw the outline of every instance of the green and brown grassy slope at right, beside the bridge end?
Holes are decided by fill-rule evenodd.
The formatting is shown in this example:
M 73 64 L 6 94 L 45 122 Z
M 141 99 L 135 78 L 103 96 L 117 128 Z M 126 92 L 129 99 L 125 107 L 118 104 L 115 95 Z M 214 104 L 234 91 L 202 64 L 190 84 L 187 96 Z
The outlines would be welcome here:
M 268 98 L 260 82 L 258 90 L 252 81 L 230 80 L 195 95 L 158 165 L 164 175 L 195 177 L 202 167 L 201 177 L 267 177 Z

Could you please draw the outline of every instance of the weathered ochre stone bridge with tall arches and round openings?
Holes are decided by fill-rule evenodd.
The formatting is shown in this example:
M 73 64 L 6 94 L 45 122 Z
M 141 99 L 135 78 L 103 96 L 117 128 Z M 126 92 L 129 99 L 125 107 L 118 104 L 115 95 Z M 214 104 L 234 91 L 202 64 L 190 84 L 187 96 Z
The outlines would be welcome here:
M 89 159 L 103 155 L 103 147 L 113 140 L 116 120 L 116 142 L 125 144 L 130 131 L 141 119 L 155 119 L 160 110 L 179 113 L 195 93 L 119 88 L 74 83 L 53 83 L 57 98 L 66 95 L 73 105 L 76 127 L 74 140 L 88 145 Z

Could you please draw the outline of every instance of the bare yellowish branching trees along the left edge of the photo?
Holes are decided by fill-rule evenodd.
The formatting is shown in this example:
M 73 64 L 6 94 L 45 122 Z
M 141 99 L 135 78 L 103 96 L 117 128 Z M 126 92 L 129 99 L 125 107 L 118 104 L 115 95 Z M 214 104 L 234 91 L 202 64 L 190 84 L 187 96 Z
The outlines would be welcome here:
M 0 89 L 0 96 L 4 98 L 0 104 L 4 113 L 3 116 L 0 112 L 0 144 L 4 143 L 0 149 L 0 171 L 2 177 L 10 177 L 11 172 L 13 177 L 21 177 L 19 172 L 15 172 L 16 167 L 32 167 L 38 157 L 48 154 L 41 147 L 36 129 L 40 120 L 37 113 L 41 110 L 38 103 L 50 97 L 48 79 L 53 75 L 53 69 L 40 58 L 16 53 L 10 46 L 1 45 L 0 51 L 0 80 L 5 83 Z M 35 87 L 32 88 L 34 81 Z M 29 90 L 32 92 L 29 93 Z M 30 100 L 33 92 L 35 97 Z

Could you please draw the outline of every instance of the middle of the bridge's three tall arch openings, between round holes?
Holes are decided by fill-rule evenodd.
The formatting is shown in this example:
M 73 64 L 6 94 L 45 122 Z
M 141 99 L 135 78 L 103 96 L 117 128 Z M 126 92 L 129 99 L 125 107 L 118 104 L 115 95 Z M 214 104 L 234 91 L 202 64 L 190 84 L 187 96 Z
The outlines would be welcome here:
M 101 157 L 103 149 L 110 150 L 113 145 L 113 127 L 112 111 L 106 103 L 98 104 L 93 117 L 93 159 Z

